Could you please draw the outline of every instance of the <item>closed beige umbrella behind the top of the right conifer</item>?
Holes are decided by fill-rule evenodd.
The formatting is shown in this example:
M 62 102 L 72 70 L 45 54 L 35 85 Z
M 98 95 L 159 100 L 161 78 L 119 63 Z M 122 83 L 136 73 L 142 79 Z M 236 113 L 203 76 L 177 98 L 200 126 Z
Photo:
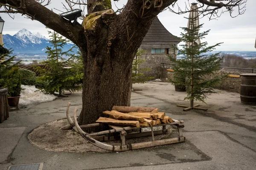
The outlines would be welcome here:
M 190 12 L 189 12 L 189 20 L 188 20 L 188 26 L 187 28 L 192 29 L 193 27 L 199 26 L 199 15 L 198 15 L 198 6 L 197 3 L 192 3 Z M 192 20 L 192 18 L 196 18 Z M 195 32 L 196 35 L 198 35 L 199 29 Z M 194 44 L 201 44 L 200 39 L 198 38 L 195 40 L 193 43 L 192 42 L 187 42 L 186 45 L 194 45 Z

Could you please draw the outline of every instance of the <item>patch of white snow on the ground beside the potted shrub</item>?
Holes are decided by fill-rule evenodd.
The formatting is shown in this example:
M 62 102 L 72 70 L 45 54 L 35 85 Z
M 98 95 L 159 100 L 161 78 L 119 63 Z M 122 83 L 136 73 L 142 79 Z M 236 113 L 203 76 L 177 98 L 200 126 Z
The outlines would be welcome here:
M 38 102 L 49 102 L 56 98 L 56 96 L 52 94 L 44 94 L 43 92 L 35 92 L 39 90 L 35 88 L 35 85 L 21 85 L 23 90 L 20 94 L 20 102 L 21 105 L 29 105 L 32 103 Z

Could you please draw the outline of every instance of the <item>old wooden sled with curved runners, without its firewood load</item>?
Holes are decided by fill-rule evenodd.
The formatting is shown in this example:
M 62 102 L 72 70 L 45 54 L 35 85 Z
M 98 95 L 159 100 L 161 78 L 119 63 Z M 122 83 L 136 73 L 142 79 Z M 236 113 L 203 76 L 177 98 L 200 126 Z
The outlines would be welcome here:
M 141 132 L 141 128 L 145 127 L 119 127 L 119 126 L 114 126 L 110 125 L 112 128 L 111 130 L 104 130 L 96 133 L 86 133 L 84 132 L 81 128 L 84 127 L 96 127 L 99 126 L 100 123 L 94 123 L 94 124 L 89 124 L 89 125 L 78 125 L 77 119 L 76 119 L 76 112 L 78 111 L 78 108 L 75 108 L 74 111 L 74 122 L 69 116 L 69 107 L 70 103 L 67 106 L 67 120 L 73 129 L 79 133 L 84 139 L 86 139 L 88 142 L 91 144 L 100 147 L 105 150 L 113 150 L 113 151 L 127 151 L 127 150 L 134 150 L 134 149 L 141 149 L 145 147 L 154 147 L 154 146 L 160 146 L 160 145 L 166 145 L 166 144 L 175 144 L 179 142 L 185 142 L 186 138 L 183 136 L 182 133 L 182 128 L 184 127 L 183 121 L 178 121 L 174 120 L 172 123 L 167 123 L 167 124 L 160 124 L 160 125 L 152 125 L 151 126 L 151 132 Z M 160 139 L 160 140 L 155 140 L 154 135 L 159 135 L 159 134 L 164 134 L 167 133 L 168 130 L 166 129 L 167 125 L 172 125 L 176 126 L 178 130 L 178 137 L 177 138 L 170 138 L 170 139 Z M 153 131 L 153 127 L 157 126 L 163 126 L 163 130 L 157 130 Z M 131 133 L 127 134 L 126 130 L 132 130 L 132 129 L 140 129 L 140 133 Z M 111 133 L 119 133 L 119 136 L 110 136 Z M 100 136 L 100 135 L 105 135 L 108 134 L 108 136 Z M 125 139 L 129 138 L 135 138 L 135 137 L 143 137 L 143 136 L 152 136 L 152 141 L 150 142 L 140 142 L 140 143 L 134 143 L 134 144 L 126 144 Z M 121 139 L 121 145 L 116 146 L 116 145 L 110 145 L 110 144 L 105 144 L 100 141 L 114 141 L 116 139 Z

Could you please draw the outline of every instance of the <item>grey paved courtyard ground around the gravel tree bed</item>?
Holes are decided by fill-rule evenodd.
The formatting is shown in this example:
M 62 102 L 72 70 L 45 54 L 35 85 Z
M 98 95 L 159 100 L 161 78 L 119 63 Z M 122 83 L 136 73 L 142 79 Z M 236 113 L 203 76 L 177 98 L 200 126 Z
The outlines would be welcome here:
M 32 145 L 28 134 L 39 125 L 65 118 L 68 102 L 81 111 L 81 93 L 11 111 L 0 124 L 0 170 L 10 165 L 44 162 L 43 170 L 254 170 L 256 169 L 256 106 L 243 105 L 238 93 L 210 94 L 208 111 L 182 111 L 185 92 L 169 82 L 134 84 L 132 106 L 157 107 L 184 120 L 186 142 L 123 153 L 64 153 Z M 139 90 L 139 91 L 138 91 Z

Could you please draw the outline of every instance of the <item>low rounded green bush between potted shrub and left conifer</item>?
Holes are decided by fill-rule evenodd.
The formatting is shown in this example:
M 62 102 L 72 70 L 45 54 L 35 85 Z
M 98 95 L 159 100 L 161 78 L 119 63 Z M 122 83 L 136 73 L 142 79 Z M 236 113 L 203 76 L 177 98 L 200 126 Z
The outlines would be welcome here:
M 36 85 L 36 76 L 33 71 L 27 70 L 25 68 L 20 68 L 20 74 L 22 85 Z

